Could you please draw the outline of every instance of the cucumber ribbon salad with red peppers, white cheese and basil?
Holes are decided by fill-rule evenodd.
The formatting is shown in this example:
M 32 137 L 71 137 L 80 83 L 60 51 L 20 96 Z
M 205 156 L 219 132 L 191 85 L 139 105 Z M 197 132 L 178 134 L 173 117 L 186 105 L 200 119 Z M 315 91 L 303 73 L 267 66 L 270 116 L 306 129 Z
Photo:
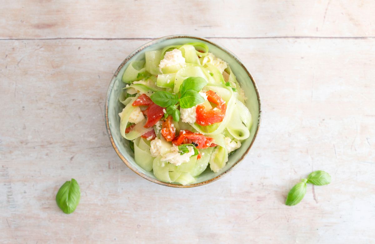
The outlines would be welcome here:
M 192 42 L 146 51 L 123 70 L 119 130 L 145 173 L 187 185 L 228 168 L 252 116 L 225 60 Z

